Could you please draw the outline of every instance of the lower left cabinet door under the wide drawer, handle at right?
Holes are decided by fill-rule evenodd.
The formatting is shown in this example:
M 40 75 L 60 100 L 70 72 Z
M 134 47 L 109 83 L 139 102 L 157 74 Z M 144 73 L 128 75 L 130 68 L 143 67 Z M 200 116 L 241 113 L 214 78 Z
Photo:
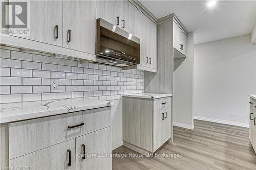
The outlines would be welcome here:
M 17 141 L 18 142 L 18 141 Z M 69 151 L 70 150 L 70 153 Z M 29 169 L 76 169 L 75 139 L 23 155 L 9 161 L 9 167 Z M 70 166 L 68 163 L 71 163 Z

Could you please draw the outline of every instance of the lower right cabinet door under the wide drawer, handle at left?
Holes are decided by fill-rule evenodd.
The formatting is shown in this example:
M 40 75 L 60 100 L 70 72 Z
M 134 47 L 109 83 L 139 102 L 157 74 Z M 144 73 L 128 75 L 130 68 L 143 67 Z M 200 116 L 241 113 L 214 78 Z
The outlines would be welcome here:
M 111 142 L 111 127 L 76 138 L 76 169 L 111 169 Z

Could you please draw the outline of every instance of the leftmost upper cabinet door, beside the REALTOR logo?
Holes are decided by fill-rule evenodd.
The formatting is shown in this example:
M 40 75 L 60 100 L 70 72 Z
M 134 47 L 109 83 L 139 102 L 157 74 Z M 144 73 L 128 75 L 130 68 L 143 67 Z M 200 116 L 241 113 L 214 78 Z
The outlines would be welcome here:
M 62 46 L 62 1 L 30 1 L 29 36 L 18 37 Z

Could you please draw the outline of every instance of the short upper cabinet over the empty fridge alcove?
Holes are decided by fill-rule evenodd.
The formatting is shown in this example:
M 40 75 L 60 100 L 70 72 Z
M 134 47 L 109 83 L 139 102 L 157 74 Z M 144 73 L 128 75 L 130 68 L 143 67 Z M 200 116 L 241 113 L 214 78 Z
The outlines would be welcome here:
M 173 44 L 174 48 L 183 54 L 187 55 L 187 35 L 182 31 L 176 21 L 173 21 Z

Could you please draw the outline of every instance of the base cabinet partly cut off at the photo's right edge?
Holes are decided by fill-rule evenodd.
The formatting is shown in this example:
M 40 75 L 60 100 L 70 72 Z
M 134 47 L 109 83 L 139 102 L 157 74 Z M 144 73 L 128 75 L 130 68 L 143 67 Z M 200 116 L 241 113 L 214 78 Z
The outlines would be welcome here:
M 250 98 L 249 104 L 250 104 L 249 139 L 250 139 L 252 148 L 254 149 L 254 152 L 256 153 L 256 100 L 253 98 Z

